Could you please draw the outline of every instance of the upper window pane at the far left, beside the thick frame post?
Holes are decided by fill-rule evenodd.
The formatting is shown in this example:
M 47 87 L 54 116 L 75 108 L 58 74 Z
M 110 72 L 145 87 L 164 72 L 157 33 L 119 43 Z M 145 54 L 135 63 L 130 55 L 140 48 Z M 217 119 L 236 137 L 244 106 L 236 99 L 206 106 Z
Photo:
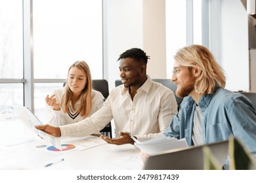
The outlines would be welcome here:
M 22 33 L 22 1 L 1 0 L 0 78 L 23 77 Z

